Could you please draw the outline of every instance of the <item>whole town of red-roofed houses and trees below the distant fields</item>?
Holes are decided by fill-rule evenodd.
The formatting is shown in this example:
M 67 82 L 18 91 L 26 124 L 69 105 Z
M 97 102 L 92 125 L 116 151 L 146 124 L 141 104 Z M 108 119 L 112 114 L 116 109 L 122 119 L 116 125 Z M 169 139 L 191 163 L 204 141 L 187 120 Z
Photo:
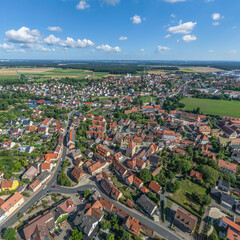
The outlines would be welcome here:
M 2 239 L 240 239 L 240 70 L 85 73 L 1 76 Z

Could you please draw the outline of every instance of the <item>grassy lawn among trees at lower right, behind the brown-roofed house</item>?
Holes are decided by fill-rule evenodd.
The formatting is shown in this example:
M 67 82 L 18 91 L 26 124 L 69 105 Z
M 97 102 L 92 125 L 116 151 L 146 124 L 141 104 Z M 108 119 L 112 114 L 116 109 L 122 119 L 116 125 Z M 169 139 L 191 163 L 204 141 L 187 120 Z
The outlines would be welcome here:
M 206 194 L 206 189 L 199 186 L 198 184 L 191 182 L 190 180 L 181 181 L 180 184 L 180 189 L 174 194 L 173 198 L 178 200 L 185 206 L 188 206 L 198 212 L 201 206 L 188 199 L 186 194 L 191 194 L 193 192 L 197 192 L 199 194 Z

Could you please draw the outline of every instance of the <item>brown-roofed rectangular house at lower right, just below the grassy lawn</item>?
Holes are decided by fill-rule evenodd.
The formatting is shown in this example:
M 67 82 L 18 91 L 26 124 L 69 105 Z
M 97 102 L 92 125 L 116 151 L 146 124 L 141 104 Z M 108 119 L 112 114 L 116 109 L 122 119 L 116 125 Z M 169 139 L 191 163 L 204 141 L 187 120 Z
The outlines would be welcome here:
M 178 208 L 174 216 L 174 224 L 178 226 L 182 231 L 192 233 L 196 223 L 197 217 L 188 211 Z

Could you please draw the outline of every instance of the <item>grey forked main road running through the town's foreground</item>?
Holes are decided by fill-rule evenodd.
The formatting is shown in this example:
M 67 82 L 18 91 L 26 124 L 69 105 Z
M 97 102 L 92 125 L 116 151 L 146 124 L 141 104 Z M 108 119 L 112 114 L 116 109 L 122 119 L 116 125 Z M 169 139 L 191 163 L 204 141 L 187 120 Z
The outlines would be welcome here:
M 68 118 L 68 125 L 66 128 L 66 133 L 64 136 L 64 146 L 63 146 L 63 151 L 62 151 L 62 156 L 61 159 L 65 159 L 66 158 L 66 153 L 67 153 L 67 147 L 66 147 L 66 135 L 67 135 L 67 131 L 69 130 L 70 124 L 71 124 L 71 118 L 72 115 L 74 114 L 74 112 L 71 112 L 69 114 L 69 118 Z M 32 198 L 30 198 L 28 200 L 27 203 L 25 203 L 25 205 L 23 205 L 19 210 L 17 210 L 14 214 L 12 214 L 10 216 L 10 218 L 8 218 L 1 226 L 0 226 L 0 231 L 2 231 L 3 229 L 8 228 L 9 226 L 11 226 L 16 220 L 17 220 L 17 216 L 19 213 L 24 213 L 26 212 L 31 206 L 33 206 L 40 198 L 42 198 L 44 195 L 46 195 L 48 192 L 55 192 L 55 193 L 63 193 L 63 194 L 75 194 L 78 192 L 82 192 L 85 189 L 98 189 L 101 192 L 101 195 L 106 198 L 108 201 L 110 201 L 111 203 L 114 203 L 117 207 L 121 208 L 122 210 L 124 210 L 125 212 L 127 212 L 128 214 L 130 214 L 131 216 L 133 216 L 134 218 L 138 219 L 141 223 L 143 223 L 144 225 L 152 228 L 156 233 L 160 234 L 162 237 L 168 239 L 168 240 L 181 240 L 180 237 L 178 237 L 177 235 L 175 235 L 170 229 L 166 228 L 165 226 L 160 225 L 160 223 L 156 223 L 152 220 L 150 220 L 147 216 L 142 215 L 141 213 L 137 213 L 133 210 L 131 210 L 130 208 L 127 208 L 126 206 L 120 204 L 119 202 L 109 198 L 101 189 L 100 185 L 96 185 L 95 182 L 93 182 L 93 184 L 87 184 L 87 185 L 83 185 L 80 187 L 73 187 L 73 188 L 69 188 L 69 187 L 62 187 L 58 184 L 57 182 L 57 177 L 58 177 L 58 173 L 61 170 L 61 160 L 59 162 L 59 164 L 57 165 L 57 169 L 54 173 L 54 175 L 52 176 L 51 180 L 49 181 L 49 183 L 47 184 L 47 187 L 45 189 L 40 190 L 36 195 L 34 195 Z M 56 188 L 52 188 L 52 185 L 55 185 Z

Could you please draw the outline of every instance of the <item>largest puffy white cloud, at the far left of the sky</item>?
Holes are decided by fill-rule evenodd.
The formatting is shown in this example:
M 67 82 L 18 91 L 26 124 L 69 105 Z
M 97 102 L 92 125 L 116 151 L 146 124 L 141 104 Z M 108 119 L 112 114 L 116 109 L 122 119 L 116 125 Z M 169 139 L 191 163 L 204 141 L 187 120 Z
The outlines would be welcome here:
M 27 27 L 21 27 L 18 30 L 9 30 L 5 32 L 7 41 L 17 43 L 35 43 L 41 40 L 41 34 L 37 29 L 30 30 Z

